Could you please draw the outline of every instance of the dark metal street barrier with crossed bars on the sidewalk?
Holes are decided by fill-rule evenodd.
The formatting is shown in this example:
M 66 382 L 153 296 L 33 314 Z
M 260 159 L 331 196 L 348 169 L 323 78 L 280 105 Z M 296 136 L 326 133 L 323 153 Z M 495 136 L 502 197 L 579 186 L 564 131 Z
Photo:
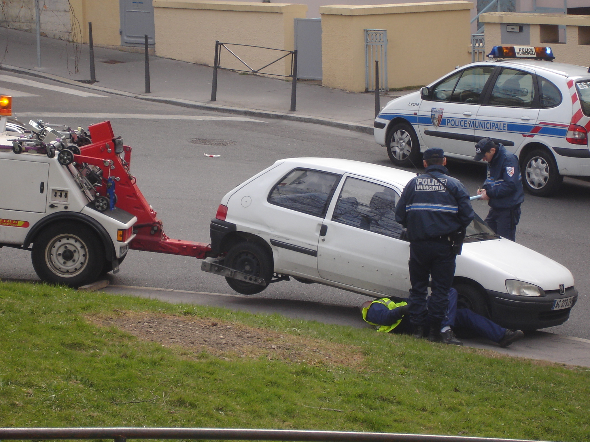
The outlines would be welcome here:
M 270 63 L 264 65 L 261 68 L 254 69 L 247 62 L 242 60 L 232 51 L 228 46 L 241 46 L 247 48 L 259 48 L 259 49 L 266 49 L 269 51 L 278 51 L 278 52 L 285 52 L 284 55 L 278 57 L 276 60 L 271 61 Z M 233 55 L 238 61 L 241 62 L 248 70 L 244 69 L 235 69 L 235 68 L 224 68 L 221 67 L 221 50 L 225 48 L 231 55 Z M 285 57 L 289 57 L 291 55 L 291 74 L 290 75 L 281 75 L 281 74 L 273 74 L 272 72 L 263 72 L 263 69 L 269 67 L 276 62 L 283 60 Z M 264 75 L 276 75 L 277 77 L 286 77 L 292 78 L 292 85 L 291 85 L 291 111 L 295 110 L 296 102 L 297 102 L 297 50 L 294 51 L 287 51 L 283 49 L 275 49 L 275 48 L 266 48 L 264 46 L 254 46 L 254 45 L 242 45 L 238 43 L 222 43 L 219 40 L 215 40 L 215 58 L 213 62 L 213 81 L 211 83 L 211 101 L 217 101 L 217 70 L 218 69 L 225 69 L 227 71 L 235 71 L 235 72 L 246 72 L 247 74 L 264 74 Z

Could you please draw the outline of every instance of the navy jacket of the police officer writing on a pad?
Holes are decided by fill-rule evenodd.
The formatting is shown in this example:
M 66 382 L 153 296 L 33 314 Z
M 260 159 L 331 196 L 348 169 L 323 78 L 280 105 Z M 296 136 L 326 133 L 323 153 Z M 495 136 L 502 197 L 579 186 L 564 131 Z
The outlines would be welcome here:
M 509 209 L 525 200 L 518 158 L 499 144 L 487 164 L 487 179 L 483 184 L 488 202 L 494 209 Z

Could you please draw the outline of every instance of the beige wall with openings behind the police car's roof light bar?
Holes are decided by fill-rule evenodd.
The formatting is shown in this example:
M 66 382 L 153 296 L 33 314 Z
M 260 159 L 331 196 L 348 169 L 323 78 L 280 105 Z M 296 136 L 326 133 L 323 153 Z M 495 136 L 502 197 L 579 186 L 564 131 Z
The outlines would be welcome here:
M 569 4 L 568 4 L 569 5 Z M 590 15 L 526 14 L 522 12 L 490 12 L 480 16 L 484 22 L 486 50 L 501 45 L 501 26 L 506 24 L 529 24 L 530 46 L 549 46 L 560 63 L 588 65 L 590 41 L 579 44 L 578 32 L 590 33 Z M 541 25 L 565 25 L 566 43 L 541 42 Z M 580 28 L 582 27 L 582 28 Z M 590 37 L 590 35 L 588 35 Z M 584 38 L 582 38 L 584 41 Z M 488 51 L 489 52 L 489 51 Z

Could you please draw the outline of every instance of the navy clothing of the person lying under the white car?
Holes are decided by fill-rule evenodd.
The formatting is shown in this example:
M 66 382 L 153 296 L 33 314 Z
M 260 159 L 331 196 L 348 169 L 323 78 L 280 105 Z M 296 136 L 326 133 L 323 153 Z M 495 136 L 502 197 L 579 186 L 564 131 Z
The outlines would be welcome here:
M 457 309 L 457 291 L 454 288 L 450 289 L 448 297 L 448 317 L 447 321 L 442 322 L 441 326 L 448 325 L 454 329 L 466 329 L 479 337 L 487 338 L 494 342 L 500 342 L 500 339 L 504 337 L 506 329 L 490 321 L 490 319 L 484 318 L 484 316 L 478 315 L 468 308 Z M 430 298 L 428 299 L 430 300 Z M 399 308 L 389 310 L 385 305 L 376 302 L 375 304 L 371 304 L 366 318 L 367 321 L 373 324 L 393 325 L 402 318 L 402 315 L 399 313 Z M 392 330 L 392 333 L 409 334 L 411 332 L 411 324 L 407 316 Z

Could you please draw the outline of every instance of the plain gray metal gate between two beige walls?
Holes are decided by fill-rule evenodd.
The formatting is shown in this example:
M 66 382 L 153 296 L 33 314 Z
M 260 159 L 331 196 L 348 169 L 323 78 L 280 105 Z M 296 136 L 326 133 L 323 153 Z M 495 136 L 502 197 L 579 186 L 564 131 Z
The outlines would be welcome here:
M 322 80 L 322 19 L 295 19 L 297 78 Z

